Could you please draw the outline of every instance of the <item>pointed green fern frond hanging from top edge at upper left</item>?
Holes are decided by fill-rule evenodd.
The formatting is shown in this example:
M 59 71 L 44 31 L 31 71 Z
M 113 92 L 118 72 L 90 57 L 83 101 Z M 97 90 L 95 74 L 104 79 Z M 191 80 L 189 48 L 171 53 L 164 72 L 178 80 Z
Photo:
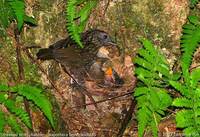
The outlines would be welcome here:
M 8 0 L 8 2 L 16 15 L 17 28 L 21 30 L 24 24 L 25 3 L 23 0 Z

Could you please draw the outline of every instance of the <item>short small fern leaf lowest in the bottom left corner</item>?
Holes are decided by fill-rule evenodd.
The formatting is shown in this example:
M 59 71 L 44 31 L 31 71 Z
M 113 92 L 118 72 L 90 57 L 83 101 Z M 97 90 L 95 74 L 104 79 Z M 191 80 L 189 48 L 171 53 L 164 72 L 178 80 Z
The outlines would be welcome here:
M 11 127 L 12 131 L 14 131 L 14 133 L 23 133 L 22 128 L 20 127 L 20 125 L 17 123 L 17 120 L 14 116 L 9 116 L 7 119 L 8 125 Z

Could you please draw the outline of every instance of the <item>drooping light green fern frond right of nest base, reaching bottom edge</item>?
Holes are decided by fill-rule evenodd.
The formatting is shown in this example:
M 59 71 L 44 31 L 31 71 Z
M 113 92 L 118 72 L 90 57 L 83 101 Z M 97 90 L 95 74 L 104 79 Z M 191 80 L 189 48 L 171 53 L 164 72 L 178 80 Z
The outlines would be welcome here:
M 166 108 L 171 104 L 171 97 L 165 90 L 156 87 L 138 87 L 135 89 L 134 96 L 138 104 L 139 137 L 143 136 L 147 126 L 150 126 L 153 135 L 157 136 L 158 123 L 161 120 L 161 115 L 164 114 Z

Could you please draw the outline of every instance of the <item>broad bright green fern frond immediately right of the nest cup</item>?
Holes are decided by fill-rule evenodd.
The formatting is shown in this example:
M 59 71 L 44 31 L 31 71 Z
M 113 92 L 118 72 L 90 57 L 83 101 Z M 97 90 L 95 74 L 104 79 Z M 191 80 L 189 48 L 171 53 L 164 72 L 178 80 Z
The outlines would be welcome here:
M 148 40 L 141 40 L 144 48 L 140 49 L 134 60 L 135 64 L 139 65 L 135 72 L 138 78 L 147 86 L 162 87 L 167 85 L 168 80 L 177 79 L 171 73 L 169 64 L 164 55 L 159 53 L 159 50 Z

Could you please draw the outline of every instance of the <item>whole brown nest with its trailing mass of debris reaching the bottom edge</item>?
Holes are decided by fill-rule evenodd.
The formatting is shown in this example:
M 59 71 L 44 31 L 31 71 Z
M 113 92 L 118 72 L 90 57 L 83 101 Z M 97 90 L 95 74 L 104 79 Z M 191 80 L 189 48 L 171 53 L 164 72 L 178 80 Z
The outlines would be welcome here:
M 88 97 L 86 97 L 86 104 L 91 105 L 87 105 L 86 109 L 80 108 L 83 105 L 83 102 L 80 101 L 80 92 L 70 87 L 70 78 L 64 71 L 61 72 L 56 81 L 56 85 L 66 99 L 64 102 L 58 101 L 60 101 L 60 106 L 67 104 L 61 110 L 61 115 L 71 134 L 82 135 L 87 133 L 94 136 L 116 136 L 120 129 L 121 122 L 132 99 L 131 94 L 127 93 L 133 91 L 136 78 L 130 56 L 126 55 L 121 58 L 119 54 L 115 54 L 109 55 L 109 57 L 112 67 L 124 83 L 109 87 L 99 85 L 96 80 L 86 78 L 84 87 L 93 97 L 98 108 L 94 107 L 94 102 L 91 102 Z

